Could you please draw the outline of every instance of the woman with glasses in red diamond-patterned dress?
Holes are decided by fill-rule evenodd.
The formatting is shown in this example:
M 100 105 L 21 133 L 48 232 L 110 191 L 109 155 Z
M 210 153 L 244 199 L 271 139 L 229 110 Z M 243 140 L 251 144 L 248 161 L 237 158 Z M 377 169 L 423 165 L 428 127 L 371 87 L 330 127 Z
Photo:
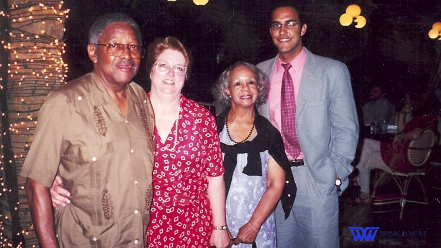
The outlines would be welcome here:
M 148 46 L 156 141 L 150 248 L 223 248 L 230 243 L 216 122 L 207 109 L 181 95 L 190 67 L 177 39 L 159 38 Z

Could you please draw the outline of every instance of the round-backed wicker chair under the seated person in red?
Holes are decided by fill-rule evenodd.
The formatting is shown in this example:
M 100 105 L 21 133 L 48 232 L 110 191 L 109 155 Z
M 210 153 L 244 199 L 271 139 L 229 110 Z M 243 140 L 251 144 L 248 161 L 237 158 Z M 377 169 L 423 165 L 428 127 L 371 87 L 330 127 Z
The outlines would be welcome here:
M 377 174 L 377 179 L 375 180 L 374 187 L 372 190 L 372 204 L 373 205 L 384 205 L 384 204 L 392 204 L 392 203 L 398 203 L 400 205 L 400 219 L 403 217 L 403 210 L 404 206 L 406 205 L 406 202 L 414 202 L 414 203 L 421 203 L 421 204 L 429 204 L 429 198 L 427 196 L 426 188 L 421 180 L 421 178 L 426 174 L 426 168 L 423 166 L 425 165 L 430 155 L 432 154 L 432 149 L 435 145 L 436 141 L 436 135 L 434 131 L 430 129 L 426 129 L 421 134 L 421 137 L 417 140 L 413 140 L 409 144 L 409 148 L 407 149 L 407 156 L 409 159 L 409 162 L 413 165 L 418 167 L 417 171 L 415 172 L 386 172 L 383 170 L 380 170 L 380 174 Z M 386 175 L 391 175 L 393 180 L 395 181 L 396 185 L 398 186 L 401 196 L 399 197 L 375 197 L 376 190 L 382 179 Z M 419 186 L 421 187 L 421 192 L 423 194 L 424 201 L 418 201 L 418 200 L 409 200 L 407 199 L 407 193 L 409 190 L 410 183 L 412 179 L 415 178 L 415 180 L 418 182 Z M 388 212 L 388 211 L 394 211 L 393 210 L 386 210 L 386 211 L 372 211 L 374 213 L 382 213 L 382 212 Z

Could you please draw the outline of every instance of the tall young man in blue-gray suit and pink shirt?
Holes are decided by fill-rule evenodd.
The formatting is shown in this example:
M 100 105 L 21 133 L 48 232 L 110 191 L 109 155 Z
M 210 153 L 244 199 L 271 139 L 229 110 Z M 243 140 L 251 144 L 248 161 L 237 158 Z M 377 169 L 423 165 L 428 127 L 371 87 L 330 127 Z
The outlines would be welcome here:
M 271 13 L 278 54 L 257 65 L 270 78 L 262 115 L 282 134 L 297 195 L 288 219 L 279 202 L 278 248 L 339 247 L 338 195 L 358 141 L 358 118 L 347 67 L 302 47 L 302 23 L 293 6 Z M 288 65 L 289 63 L 289 65 Z

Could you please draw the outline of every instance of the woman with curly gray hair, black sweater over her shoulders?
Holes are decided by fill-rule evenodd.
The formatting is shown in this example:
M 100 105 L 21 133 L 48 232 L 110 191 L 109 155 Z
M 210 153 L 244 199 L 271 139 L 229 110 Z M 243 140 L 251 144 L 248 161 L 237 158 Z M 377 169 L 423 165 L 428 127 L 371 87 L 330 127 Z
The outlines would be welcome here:
M 296 187 L 282 136 L 256 105 L 268 97 L 268 79 L 237 62 L 219 77 L 213 93 L 228 106 L 217 118 L 225 167 L 226 221 L 234 245 L 275 248 L 274 208 L 280 197 L 288 217 Z M 285 189 L 284 189 L 285 187 Z M 282 193 L 283 191 L 283 193 Z

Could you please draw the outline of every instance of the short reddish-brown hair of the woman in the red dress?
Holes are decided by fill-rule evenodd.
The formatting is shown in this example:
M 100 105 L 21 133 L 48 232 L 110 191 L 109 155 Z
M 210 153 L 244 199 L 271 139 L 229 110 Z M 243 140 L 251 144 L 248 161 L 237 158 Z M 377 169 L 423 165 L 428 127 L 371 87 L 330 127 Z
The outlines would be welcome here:
M 147 74 L 150 74 L 151 68 L 158 59 L 159 55 L 167 49 L 179 51 L 182 53 L 182 55 L 184 55 L 187 62 L 187 74 L 185 75 L 185 78 L 188 79 L 192 71 L 192 55 L 178 39 L 172 36 L 156 38 L 148 45 L 146 59 Z

